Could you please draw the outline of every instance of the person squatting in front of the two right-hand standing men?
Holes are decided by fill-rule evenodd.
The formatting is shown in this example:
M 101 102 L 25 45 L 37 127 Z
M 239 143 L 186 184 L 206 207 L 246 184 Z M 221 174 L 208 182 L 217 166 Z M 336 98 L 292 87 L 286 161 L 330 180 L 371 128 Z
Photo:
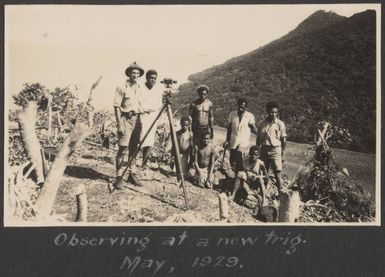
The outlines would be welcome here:
M 237 191 L 243 187 L 247 193 L 251 192 L 250 188 L 260 189 L 262 206 L 266 203 L 265 187 L 269 181 L 269 176 L 265 164 L 258 158 L 258 152 L 257 146 L 250 147 L 249 157 L 243 161 L 243 169 L 237 173 L 234 179 L 234 188 L 230 200 L 234 200 Z

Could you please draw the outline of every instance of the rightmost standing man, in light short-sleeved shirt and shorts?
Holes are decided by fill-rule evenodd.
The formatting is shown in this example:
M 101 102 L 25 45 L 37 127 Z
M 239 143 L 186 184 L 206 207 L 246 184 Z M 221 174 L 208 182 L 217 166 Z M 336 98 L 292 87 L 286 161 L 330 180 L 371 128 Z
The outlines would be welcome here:
M 277 180 L 278 193 L 282 188 L 282 161 L 286 147 L 286 127 L 278 119 L 278 104 L 274 101 L 266 105 L 267 117 L 258 125 L 257 147 L 260 147 L 261 160 L 265 163 L 266 170 L 273 169 Z

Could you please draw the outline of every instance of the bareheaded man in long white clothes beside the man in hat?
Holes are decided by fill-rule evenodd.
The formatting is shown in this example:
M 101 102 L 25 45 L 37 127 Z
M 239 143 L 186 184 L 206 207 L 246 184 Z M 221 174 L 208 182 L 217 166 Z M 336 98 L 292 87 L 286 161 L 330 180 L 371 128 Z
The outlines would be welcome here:
M 142 86 L 142 114 L 139 117 L 140 121 L 140 141 L 143 140 L 144 136 L 151 127 L 151 124 L 156 119 L 160 110 L 163 107 L 163 87 L 156 84 L 158 73 L 150 69 L 146 72 L 146 83 Z M 151 131 L 147 135 L 146 139 L 142 144 L 143 150 L 143 161 L 142 166 L 147 166 L 147 161 L 151 154 L 151 148 L 154 146 L 155 133 L 157 124 L 152 127 Z

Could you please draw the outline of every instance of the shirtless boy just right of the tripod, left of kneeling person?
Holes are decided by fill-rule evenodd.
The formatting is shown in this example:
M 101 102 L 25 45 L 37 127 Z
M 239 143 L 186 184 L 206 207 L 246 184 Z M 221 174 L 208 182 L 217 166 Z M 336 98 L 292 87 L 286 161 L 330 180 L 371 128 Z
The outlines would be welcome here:
M 182 164 L 182 171 L 185 178 L 190 177 L 190 164 L 192 164 L 192 133 L 190 131 L 190 118 L 182 117 L 180 120 L 180 130 L 176 132 L 178 145 L 179 145 L 179 153 L 180 160 Z M 173 151 L 173 154 L 175 152 Z M 180 170 L 177 169 L 178 181 Z

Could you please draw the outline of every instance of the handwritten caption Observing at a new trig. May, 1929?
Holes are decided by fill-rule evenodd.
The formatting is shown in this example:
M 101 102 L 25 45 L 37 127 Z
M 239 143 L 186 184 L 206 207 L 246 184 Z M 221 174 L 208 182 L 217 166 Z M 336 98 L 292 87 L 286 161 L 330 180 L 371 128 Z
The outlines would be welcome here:
M 291 234 L 290 232 L 282 235 L 277 234 L 274 230 L 268 233 L 264 233 L 259 236 L 248 237 L 196 237 L 190 236 L 188 232 L 182 231 L 178 235 L 157 238 L 156 240 L 151 238 L 151 233 L 145 236 L 130 236 L 125 232 L 121 235 L 113 237 L 86 237 L 80 234 L 74 233 L 60 233 L 54 239 L 53 243 L 57 247 L 130 247 L 136 251 L 137 254 L 130 256 L 122 256 L 118 263 L 118 269 L 120 271 L 127 271 L 129 275 L 139 269 L 150 270 L 152 275 L 159 272 L 172 274 L 175 271 L 176 265 L 173 262 L 165 259 L 147 258 L 142 256 L 144 251 L 150 244 L 156 244 L 157 252 L 161 253 L 161 248 L 158 247 L 174 247 L 179 249 L 183 245 L 189 245 L 192 247 L 204 249 L 206 247 L 221 248 L 223 247 L 275 247 L 277 249 L 283 249 L 285 255 L 294 254 L 297 249 L 306 244 L 306 240 L 302 237 L 302 234 Z M 160 250 L 159 250 L 160 249 Z M 180 250 L 180 249 L 179 249 Z M 186 262 L 186 261 L 184 261 Z M 184 264 L 186 266 L 186 264 Z M 234 256 L 194 256 L 189 258 L 187 266 L 191 268 L 203 268 L 203 267 L 222 267 L 222 268 L 238 268 L 245 267 L 241 261 L 241 257 Z

